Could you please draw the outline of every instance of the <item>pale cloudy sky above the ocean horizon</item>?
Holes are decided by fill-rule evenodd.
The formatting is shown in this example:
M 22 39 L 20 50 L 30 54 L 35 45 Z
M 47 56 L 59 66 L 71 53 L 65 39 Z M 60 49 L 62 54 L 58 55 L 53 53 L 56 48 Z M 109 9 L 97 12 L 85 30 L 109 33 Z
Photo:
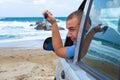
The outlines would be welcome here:
M 0 17 L 40 17 L 44 10 L 65 17 L 83 0 L 0 0 Z

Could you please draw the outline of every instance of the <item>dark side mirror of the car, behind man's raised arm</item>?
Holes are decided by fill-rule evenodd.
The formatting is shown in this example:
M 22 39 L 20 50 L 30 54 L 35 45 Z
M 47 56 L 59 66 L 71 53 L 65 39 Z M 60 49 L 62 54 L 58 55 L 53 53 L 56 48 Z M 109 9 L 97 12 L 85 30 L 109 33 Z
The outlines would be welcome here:
M 48 51 L 54 51 L 54 48 L 52 45 L 52 37 L 48 37 L 45 39 L 43 43 L 43 49 Z

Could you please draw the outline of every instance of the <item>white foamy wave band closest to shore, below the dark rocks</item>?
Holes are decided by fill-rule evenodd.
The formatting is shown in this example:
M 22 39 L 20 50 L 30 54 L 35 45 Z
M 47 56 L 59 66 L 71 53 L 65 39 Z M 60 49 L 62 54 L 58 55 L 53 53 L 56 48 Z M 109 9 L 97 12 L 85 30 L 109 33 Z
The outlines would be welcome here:
M 66 38 L 66 31 L 60 31 L 61 38 Z M 51 31 L 30 31 L 30 32 L 24 32 L 24 33 L 12 33 L 12 34 L 2 34 L 0 35 L 0 43 L 5 42 L 17 42 L 17 41 L 26 41 L 26 40 L 45 40 L 47 37 L 51 37 L 52 33 Z

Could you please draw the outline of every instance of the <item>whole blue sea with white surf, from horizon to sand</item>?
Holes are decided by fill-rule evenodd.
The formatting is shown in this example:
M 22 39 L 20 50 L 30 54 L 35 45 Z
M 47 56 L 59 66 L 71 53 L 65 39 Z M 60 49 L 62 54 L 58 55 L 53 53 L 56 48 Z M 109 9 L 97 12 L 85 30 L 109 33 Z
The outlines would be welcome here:
M 56 17 L 62 40 L 65 40 L 66 17 Z M 36 30 L 36 22 L 45 22 L 43 17 L 1 17 L 0 18 L 0 47 L 42 47 L 51 30 Z M 32 24 L 32 26 L 30 26 Z M 64 43 L 64 42 L 63 42 Z

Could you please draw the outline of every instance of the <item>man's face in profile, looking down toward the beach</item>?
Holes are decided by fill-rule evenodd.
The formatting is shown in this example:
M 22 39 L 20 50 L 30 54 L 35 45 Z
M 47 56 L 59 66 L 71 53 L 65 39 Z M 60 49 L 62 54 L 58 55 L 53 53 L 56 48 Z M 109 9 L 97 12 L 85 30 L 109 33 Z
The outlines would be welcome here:
M 76 43 L 76 41 L 77 41 L 77 35 L 78 35 L 78 31 L 79 31 L 79 26 L 80 26 L 79 22 L 80 21 L 78 21 L 78 19 L 76 17 L 74 17 L 66 22 L 66 28 L 68 29 L 68 37 L 71 38 L 73 43 Z M 89 28 L 90 28 L 90 24 L 89 24 L 89 22 L 87 22 L 86 32 L 88 31 Z

